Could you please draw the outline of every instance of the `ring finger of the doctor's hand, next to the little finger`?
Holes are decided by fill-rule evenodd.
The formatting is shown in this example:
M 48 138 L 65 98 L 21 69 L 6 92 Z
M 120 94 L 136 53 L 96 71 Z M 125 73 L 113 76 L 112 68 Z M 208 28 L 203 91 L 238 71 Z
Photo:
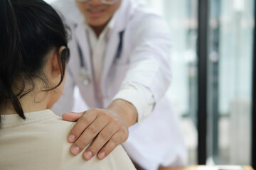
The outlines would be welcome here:
M 119 130 L 117 126 L 115 126 L 113 123 L 108 124 L 93 140 L 93 142 L 90 144 L 89 147 L 85 150 L 83 157 L 85 160 L 89 160 L 92 157 L 97 154 L 104 145 L 110 140 L 110 138 Z M 102 153 L 103 157 L 100 157 L 100 159 L 104 158 L 105 153 Z M 98 154 L 99 155 L 99 154 Z

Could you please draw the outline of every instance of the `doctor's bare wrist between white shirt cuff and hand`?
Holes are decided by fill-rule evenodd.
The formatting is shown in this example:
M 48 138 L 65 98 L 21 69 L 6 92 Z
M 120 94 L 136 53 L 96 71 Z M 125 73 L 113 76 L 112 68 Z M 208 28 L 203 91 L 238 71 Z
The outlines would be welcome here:
M 108 106 L 106 109 L 121 116 L 128 128 L 137 123 L 137 110 L 132 105 L 132 103 L 129 103 L 128 101 L 116 99 L 112 101 L 112 103 L 110 103 L 110 106 Z

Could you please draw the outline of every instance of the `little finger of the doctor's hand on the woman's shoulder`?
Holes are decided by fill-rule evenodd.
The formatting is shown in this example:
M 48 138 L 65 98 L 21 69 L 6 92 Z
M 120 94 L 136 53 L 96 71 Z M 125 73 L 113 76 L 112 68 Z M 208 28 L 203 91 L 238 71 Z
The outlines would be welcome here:
M 105 157 L 107 157 L 108 154 L 110 154 L 114 150 L 114 148 L 116 148 L 118 145 L 122 144 L 123 142 L 127 141 L 127 138 L 128 138 L 128 132 L 127 132 L 127 136 L 124 137 L 124 133 L 121 131 L 118 131 L 110 138 L 107 144 L 104 147 L 102 147 L 102 149 L 100 149 L 100 152 L 99 154 L 97 154 L 97 157 L 99 159 L 104 159 Z

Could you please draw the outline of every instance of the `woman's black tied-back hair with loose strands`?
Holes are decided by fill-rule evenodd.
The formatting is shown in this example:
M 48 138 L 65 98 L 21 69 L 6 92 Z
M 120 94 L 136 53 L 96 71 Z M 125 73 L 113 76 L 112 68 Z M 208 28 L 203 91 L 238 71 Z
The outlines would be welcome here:
M 16 113 L 26 119 L 19 98 L 33 91 L 33 78 L 45 82 L 43 91 L 53 90 L 63 81 L 69 59 L 67 30 L 58 13 L 43 0 L 0 0 L 0 42 L 0 107 L 11 101 Z M 62 46 L 66 48 L 60 53 Z M 51 50 L 57 52 L 61 74 L 54 87 L 43 74 Z M 30 89 L 27 82 L 31 82 Z

